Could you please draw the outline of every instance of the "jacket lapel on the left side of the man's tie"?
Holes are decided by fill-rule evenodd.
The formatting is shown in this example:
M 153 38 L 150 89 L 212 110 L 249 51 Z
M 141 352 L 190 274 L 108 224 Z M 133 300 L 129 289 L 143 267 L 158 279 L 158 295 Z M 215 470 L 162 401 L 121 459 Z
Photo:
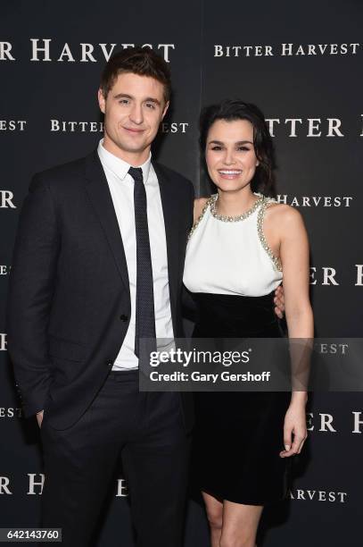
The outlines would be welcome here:
M 113 206 L 109 185 L 103 166 L 95 151 L 87 156 L 86 165 L 86 189 L 88 196 L 98 216 L 105 236 L 111 248 L 112 255 L 118 267 L 122 282 L 129 291 L 128 265 L 126 263 L 125 251 L 120 234 L 120 227 Z

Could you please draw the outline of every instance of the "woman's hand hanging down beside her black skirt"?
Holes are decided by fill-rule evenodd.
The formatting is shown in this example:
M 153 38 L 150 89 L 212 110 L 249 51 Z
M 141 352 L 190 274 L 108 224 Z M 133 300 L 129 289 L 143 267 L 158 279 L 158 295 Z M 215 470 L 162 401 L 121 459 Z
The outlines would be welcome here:
M 285 414 L 285 450 L 280 452 L 280 457 L 288 458 L 293 454 L 300 454 L 307 436 L 305 404 L 301 401 L 291 403 Z

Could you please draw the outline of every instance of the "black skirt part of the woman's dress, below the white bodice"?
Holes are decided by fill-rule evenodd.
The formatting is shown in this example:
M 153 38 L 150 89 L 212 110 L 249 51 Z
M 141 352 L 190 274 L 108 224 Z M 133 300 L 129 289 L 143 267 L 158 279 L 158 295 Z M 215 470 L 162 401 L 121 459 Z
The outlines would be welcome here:
M 194 293 L 194 338 L 282 336 L 271 293 L 263 297 Z M 284 450 L 285 391 L 194 393 L 194 483 L 219 500 L 266 505 L 285 499 L 291 459 Z M 195 484 L 194 484 L 195 485 Z

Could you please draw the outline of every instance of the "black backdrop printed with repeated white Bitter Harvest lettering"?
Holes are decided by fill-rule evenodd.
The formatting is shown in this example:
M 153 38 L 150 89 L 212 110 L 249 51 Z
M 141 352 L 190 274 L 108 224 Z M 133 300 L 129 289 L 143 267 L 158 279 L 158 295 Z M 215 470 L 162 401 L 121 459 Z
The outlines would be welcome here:
M 2 6 L 1 526 L 37 525 L 42 478 L 37 427 L 21 417 L 6 352 L 4 303 L 21 202 L 32 173 L 97 145 L 102 117 L 96 91 L 112 47 L 149 44 L 169 61 L 172 109 L 154 154 L 192 179 L 202 195 L 208 188 L 197 147 L 201 106 L 223 97 L 260 106 L 275 139 L 279 198 L 299 207 L 309 231 L 317 335 L 359 337 L 362 16 L 358 0 L 109 0 L 103 6 L 33 0 Z M 309 442 L 295 465 L 291 500 L 265 511 L 264 547 L 360 541 L 362 397 L 315 393 L 308 412 Z M 133 544 L 126 494 L 118 472 L 99 547 Z M 190 501 L 186 547 L 203 545 L 203 510 Z

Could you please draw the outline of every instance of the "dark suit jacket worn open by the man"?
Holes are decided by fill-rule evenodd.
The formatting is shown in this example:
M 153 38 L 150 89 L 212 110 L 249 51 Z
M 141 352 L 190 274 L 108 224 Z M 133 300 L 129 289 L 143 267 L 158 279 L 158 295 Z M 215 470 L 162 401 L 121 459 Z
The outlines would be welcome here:
M 193 223 L 190 181 L 153 163 L 165 221 L 174 333 Z M 10 275 L 8 349 L 25 416 L 45 408 L 65 429 L 86 411 L 117 357 L 130 318 L 128 268 L 97 152 L 39 173 L 25 198 Z M 193 405 L 181 400 L 186 429 Z

